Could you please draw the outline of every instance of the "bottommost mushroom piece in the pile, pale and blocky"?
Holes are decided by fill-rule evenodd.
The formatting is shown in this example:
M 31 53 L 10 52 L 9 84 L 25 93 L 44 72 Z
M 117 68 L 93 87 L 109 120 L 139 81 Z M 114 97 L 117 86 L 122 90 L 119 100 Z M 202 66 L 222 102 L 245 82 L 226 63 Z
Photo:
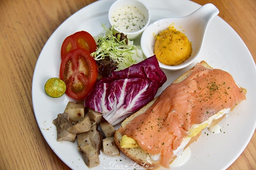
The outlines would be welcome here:
M 96 149 L 93 148 L 92 144 L 79 146 L 78 149 L 82 153 L 84 163 L 88 167 L 94 167 L 100 164 L 99 155 Z

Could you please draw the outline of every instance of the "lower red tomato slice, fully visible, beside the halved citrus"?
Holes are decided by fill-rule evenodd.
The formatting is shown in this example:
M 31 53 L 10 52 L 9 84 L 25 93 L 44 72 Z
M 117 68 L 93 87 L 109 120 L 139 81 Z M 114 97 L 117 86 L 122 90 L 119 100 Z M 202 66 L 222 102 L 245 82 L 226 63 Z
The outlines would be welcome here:
M 90 52 L 76 48 L 68 52 L 60 63 L 60 79 L 66 83 L 66 94 L 74 99 L 84 99 L 97 80 L 96 61 Z

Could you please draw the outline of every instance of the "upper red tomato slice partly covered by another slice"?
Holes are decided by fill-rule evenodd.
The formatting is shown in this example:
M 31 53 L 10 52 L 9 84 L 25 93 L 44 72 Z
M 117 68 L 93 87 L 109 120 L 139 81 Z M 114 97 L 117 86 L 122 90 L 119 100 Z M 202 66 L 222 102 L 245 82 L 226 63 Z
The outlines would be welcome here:
M 95 52 L 97 45 L 92 35 L 86 31 L 79 31 L 64 39 L 61 46 L 61 60 L 71 50 L 76 48 L 84 48 L 89 53 Z

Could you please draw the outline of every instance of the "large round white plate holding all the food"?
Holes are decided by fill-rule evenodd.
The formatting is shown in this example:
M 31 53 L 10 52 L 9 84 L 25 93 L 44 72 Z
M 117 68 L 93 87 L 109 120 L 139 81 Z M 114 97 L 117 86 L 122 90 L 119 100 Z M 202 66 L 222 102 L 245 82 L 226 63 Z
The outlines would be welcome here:
M 103 32 L 101 23 L 108 23 L 108 9 L 114 0 L 100 0 L 77 11 L 63 22 L 46 42 L 40 53 L 32 82 L 32 101 L 35 117 L 41 132 L 58 157 L 72 169 L 89 169 L 77 150 L 77 143 L 57 142 L 56 127 L 52 120 L 63 113 L 66 104 L 72 99 L 64 95 L 51 98 L 44 92 L 44 84 L 51 77 L 59 76 L 60 47 L 63 40 L 81 30 L 97 36 Z M 181 17 L 200 7 L 187 0 L 143 0 L 151 12 L 151 23 L 166 17 Z M 139 39 L 135 43 L 140 42 Z M 197 142 L 190 145 L 191 157 L 178 169 L 226 169 L 243 152 L 255 130 L 256 122 L 256 68 L 248 48 L 237 33 L 220 17 L 211 21 L 200 56 L 189 67 L 175 72 L 166 72 L 167 81 L 156 95 L 165 89 L 174 79 L 205 60 L 214 68 L 220 68 L 233 75 L 240 86 L 247 89 L 247 100 L 239 104 L 230 116 L 220 122 L 222 132 L 212 134 L 207 129 Z M 224 133 L 225 132 L 225 133 Z M 206 134 L 209 134 L 208 136 Z M 100 165 L 93 169 L 134 169 L 132 160 L 124 154 L 110 157 L 100 154 Z M 127 165 L 127 166 L 126 166 Z M 136 169 L 139 169 L 138 167 Z

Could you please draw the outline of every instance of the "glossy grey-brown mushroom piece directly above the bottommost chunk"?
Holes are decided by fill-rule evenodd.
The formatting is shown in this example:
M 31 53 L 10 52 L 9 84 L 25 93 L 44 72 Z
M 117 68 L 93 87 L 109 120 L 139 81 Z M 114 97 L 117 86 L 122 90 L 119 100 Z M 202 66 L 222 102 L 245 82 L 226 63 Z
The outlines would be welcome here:
M 103 135 L 102 132 L 98 130 L 98 124 L 93 125 L 90 131 L 77 134 L 78 147 L 92 144 L 93 148 L 96 149 L 99 155 L 102 139 Z

